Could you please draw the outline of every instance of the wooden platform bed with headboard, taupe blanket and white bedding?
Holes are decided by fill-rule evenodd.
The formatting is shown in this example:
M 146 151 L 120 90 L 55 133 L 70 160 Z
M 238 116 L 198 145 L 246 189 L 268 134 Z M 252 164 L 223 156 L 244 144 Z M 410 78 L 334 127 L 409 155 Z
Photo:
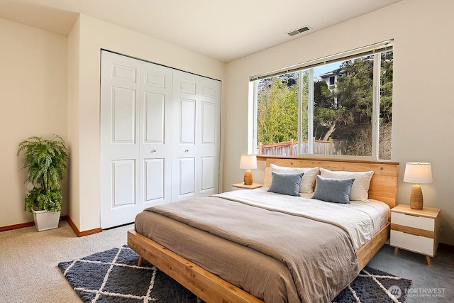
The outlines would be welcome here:
M 268 193 L 267 189 L 272 188 L 272 183 L 279 175 L 279 168 L 276 167 L 284 170 L 288 168 L 289 172 L 284 171 L 286 173 L 294 172 L 295 167 L 321 167 L 318 169 L 322 170 L 321 174 L 317 174 L 319 184 L 325 182 L 321 177 L 323 174 L 328 176 L 326 174 L 336 172 L 373 172 L 367 186 L 367 203 L 370 201 L 374 204 L 374 200 L 378 200 L 380 202 L 377 204 L 381 203 L 387 206 L 387 209 L 382 210 L 382 215 L 375 219 L 376 222 L 380 221 L 380 224 L 374 224 L 373 228 L 367 227 L 374 229 L 373 232 L 366 232 L 366 236 L 355 236 L 355 231 L 350 233 L 348 226 L 326 222 L 326 219 L 318 216 L 319 210 L 311 211 L 309 204 L 316 203 L 317 200 L 307 199 L 304 204 L 298 204 L 297 201 L 302 201 L 304 196 L 310 198 L 312 194 L 301 193 L 300 196 L 303 197 L 288 197 L 282 200 L 281 196 L 287 195 Z M 189 203 L 182 203 L 182 206 L 177 203 L 153 211 L 143 211 L 136 219 L 135 230 L 128 231 L 128 246 L 140 255 L 140 259 L 150 261 L 206 302 L 299 302 L 307 301 L 308 298 L 311 298 L 311 301 L 328 301 L 353 280 L 358 270 L 367 264 L 389 238 L 389 207 L 395 204 L 398 167 L 396 162 L 268 158 L 264 188 L 228 192 L 215 197 L 194 199 Z M 309 172 L 306 175 L 309 175 Z M 302 184 L 303 182 L 301 188 Z M 316 188 L 316 193 L 318 192 Z M 258 206 L 259 202 L 265 202 L 266 205 Z M 210 206 L 206 207 L 206 203 Z M 292 214 L 287 214 L 286 209 L 289 207 L 285 206 L 286 203 L 292 205 Z M 343 208 L 336 203 L 319 204 L 330 208 L 337 207 L 339 211 Z M 297 205 L 296 209 L 294 205 Z M 358 208 L 355 209 L 355 216 L 358 214 L 358 217 L 361 217 L 365 216 L 364 208 L 376 208 L 365 205 L 352 202 L 348 207 Z M 222 207 L 231 208 L 233 211 L 227 215 L 229 211 Z M 243 207 L 248 207 L 247 211 Z M 279 207 L 284 207 L 284 210 L 277 209 Z M 304 209 L 316 217 L 308 218 Z M 182 214 L 179 214 L 179 211 Z M 192 214 L 199 213 L 203 218 L 192 221 Z M 218 216 L 220 213 L 225 214 Z M 250 221 L 252 217 L 260 220 Z M 279 224 L 279 221 L 274 226 L 261 224 L 261 221 L 268 224 L 275 219 L 283 219 L 286 224 Z M 232 230 L 235 233 L 226 236 L 226 229 L 216 227 L 218 221 L 226 221 L 224 223 L 229 226 L 229 232 Z M 250 226 L 236 226 L 239 221 L 245 221 L 245 224 Z M 311 225 L 308 221 L 311 221 Z M 254 226 L 258 226 L 260 230 L 258 236 L 251 232 Z M 309 236 L 317 236 L 292 233 L 291 231 L 295 230 L 292 228 L 309 231 Z M 169 236 L 170 234 L 172 236 Z M 287 236 L 279 236 L 282 234 Z M 265 242 L 264 248 L 259 240 Z M 305 245 L 295 244 L 292 248 L 285 248 L 282 253 L 276 252 L 271 244 L 268 244 L 271 242 L 277 246 L 284 246 L 287 244 L 285 242 Z M 309 242 L 314 242 L 311 244 L 313 248 Z M 298 261 L 289 259 L 289 255 L 298 255 L 297 249 L 301 247 L 307 255 Z M 337 255 L 338 258 L 323 257 L 320 251 L 328 256 Z M 279 255 L 276 255 L 277 253 Z M 334 263 L 327 263 L 328 261 Z M 336 265 L 336 262 L 339 265 Z M 331 270 L 336 267 L 340 269 Z M 324 268 L 324 271 L 317 268 Z M 315 282 L 308 283 L 308 280 Z M 321 290 L 318 290 L 319 288 Z

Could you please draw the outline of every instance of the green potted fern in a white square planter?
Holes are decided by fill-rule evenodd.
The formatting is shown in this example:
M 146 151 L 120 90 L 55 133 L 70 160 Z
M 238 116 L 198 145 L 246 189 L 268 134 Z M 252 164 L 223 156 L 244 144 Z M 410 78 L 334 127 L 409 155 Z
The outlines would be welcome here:
M 62 210 L 60 182 L 65 177 L 67 148 L 60 136 L 52 139 L 30 137 L 19 144 L 24 153 L 23 168 L 33 184 L 25 197 L 25 209 L 33 214 L 38 231 L 57 228 Z

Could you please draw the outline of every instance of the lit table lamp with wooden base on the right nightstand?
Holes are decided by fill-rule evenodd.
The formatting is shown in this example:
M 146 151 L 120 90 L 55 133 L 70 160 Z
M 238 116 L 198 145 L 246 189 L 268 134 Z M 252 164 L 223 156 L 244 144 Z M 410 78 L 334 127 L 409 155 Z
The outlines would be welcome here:
M 432 183 L 431 163 L 406 162 L 404 182 L 415 183 L 413 187 L 411 187 L 410 207 L 412 209 L 422 209 L 423 191 L 419 184 Z

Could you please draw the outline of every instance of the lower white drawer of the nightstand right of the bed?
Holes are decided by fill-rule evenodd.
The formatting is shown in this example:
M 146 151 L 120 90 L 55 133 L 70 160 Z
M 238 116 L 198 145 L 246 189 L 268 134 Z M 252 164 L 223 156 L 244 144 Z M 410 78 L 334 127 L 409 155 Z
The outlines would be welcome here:
M 391 231 L 389 244 L 433 257 L 434 240 L 432 238 L 414 236 L 409 233 L 403 233 L 402 231 Z

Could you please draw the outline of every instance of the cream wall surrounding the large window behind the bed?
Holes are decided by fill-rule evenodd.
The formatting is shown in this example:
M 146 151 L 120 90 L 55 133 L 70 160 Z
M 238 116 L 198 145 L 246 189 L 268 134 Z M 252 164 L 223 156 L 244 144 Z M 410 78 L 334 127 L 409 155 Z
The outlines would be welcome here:
M 392 160 L 400 162 L 397 203 L 409 204 L 405 162 L 432 163 L 424 205 L 441 209 L 441 242 L 454 245 L 454 1 L 403 0 L 297 40 L 230 62 L 226 71 L 223 186 L 240 182 L 247 152 L 248 77 L 394 38 Z M 238 167 L 238 168 L 237 168 Z M 263 167 L 263 163 L 260 164 Z M 253 171 L 255 181 L 263 170 Z

